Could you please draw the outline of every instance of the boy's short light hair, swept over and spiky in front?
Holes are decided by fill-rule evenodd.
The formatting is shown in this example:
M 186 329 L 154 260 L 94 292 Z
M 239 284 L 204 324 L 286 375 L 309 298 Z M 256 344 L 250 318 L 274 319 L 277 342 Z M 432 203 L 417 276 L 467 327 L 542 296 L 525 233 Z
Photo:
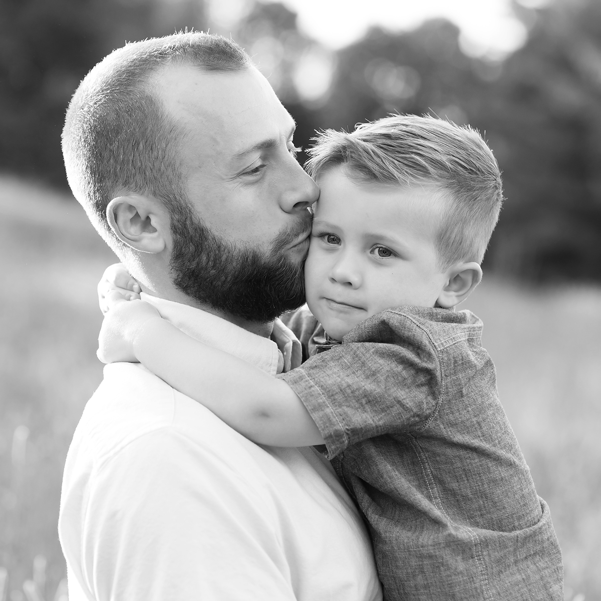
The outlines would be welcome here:
M 359 182 L 403 187 L 435 185 L 447 192 L 436 255 L 442 269 L 460 261 L 481 263 L 503 201 L 501 171 L 472 127 L 416 115 L 362 123 L 351 132 L 317 134 L 305 168 L 312 177 L 347 166 Z

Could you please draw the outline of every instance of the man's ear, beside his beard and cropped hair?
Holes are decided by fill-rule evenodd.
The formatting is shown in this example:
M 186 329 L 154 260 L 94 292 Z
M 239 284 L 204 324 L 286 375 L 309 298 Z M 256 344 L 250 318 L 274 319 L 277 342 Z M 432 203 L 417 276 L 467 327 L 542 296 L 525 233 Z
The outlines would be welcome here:
M 115 236 L 136 251 L 154 254 L 165 249 L 169 216 L 156 198 L 138 194 L 113 198 L 106 219 Z

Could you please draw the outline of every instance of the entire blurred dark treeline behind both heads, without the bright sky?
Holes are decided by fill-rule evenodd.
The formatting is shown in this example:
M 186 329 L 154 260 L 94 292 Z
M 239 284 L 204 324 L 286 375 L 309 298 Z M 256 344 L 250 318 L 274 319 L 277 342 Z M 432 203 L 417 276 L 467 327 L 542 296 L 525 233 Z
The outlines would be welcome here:
M 504 171 L 507 202 L 487 266 L 537 280 L 601 279 L 598 0 L 514 4 L 530 35 L 504 63 L 466 56 L 459 29 L 442 19 L 410 32 L 373 28 L 332 53 L 299 32 L 284 5 L 239 4 L 222 33 L 267 76 L 297 121 L 298 144 L 318 127 L 352 129 L 389 112 L 469 122 Z M 59 136 L 85 73 L 126 40 L 203 29 L 207 12 L 204 0 L 2 0 L 0 169 L 64 185 Z

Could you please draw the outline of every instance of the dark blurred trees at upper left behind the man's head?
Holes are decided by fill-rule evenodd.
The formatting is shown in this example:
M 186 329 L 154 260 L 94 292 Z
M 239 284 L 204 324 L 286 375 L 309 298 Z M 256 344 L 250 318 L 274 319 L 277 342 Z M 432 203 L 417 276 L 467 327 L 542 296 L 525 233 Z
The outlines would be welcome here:
M 2 0 L 0 168 L 66 185 L 60 133 L 85 74 L 126 41 L 204 26 L 197 0 Z

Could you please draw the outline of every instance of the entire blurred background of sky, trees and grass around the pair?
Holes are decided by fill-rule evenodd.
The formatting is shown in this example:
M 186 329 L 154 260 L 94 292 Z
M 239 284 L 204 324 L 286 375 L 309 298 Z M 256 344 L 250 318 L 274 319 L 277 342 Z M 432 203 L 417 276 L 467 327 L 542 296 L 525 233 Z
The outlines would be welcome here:
M 95 288 L 115 257 L 69 194 L 64 112 L 112 49 L 183 28 L 245 47 L 304 147 L 390 112 L 486 136 L 507 200 L 465 306 L 551 506 L 566 600 L 601 600 L 600 0 L 0 0 L 0 601 L 66 599 L 61 474 L 102 379 Z

